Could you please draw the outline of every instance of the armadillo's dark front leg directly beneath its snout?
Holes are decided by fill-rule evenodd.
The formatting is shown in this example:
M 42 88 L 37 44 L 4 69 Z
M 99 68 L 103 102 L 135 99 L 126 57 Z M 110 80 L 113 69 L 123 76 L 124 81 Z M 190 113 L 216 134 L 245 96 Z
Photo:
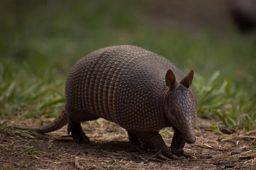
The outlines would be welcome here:
M 179 130 L 174 128 L 175 133 L 172 138 L 172 144 L 171 144 L 171 150 L 172 153 L 175 154 L 176 156 L 183 156 L 183 147 L 186 144 L 186 141 L 183 139 L 182 134 L 180 133 Z

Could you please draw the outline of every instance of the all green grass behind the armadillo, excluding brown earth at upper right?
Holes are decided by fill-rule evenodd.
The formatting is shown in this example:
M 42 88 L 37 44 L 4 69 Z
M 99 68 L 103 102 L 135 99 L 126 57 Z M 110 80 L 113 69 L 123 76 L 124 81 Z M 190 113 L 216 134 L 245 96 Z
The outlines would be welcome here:
M 120 44 L 160 54 L 195 71 L 198 116 L 219 126 L 256 129 L 256 41 L 231 30 L 188 31 L 145 22 L 143 3 L 6 1 L 0 7 L 0 116 L 56 116 L 72 65 Z M 4 16 L 4 17 L 3 17 Z

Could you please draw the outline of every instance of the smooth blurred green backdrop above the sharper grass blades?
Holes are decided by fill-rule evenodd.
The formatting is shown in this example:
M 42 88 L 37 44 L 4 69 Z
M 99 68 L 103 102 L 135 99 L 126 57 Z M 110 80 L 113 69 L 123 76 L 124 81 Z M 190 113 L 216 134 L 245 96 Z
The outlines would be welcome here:
M 170 8 L 163 8 L 168 5 Z M 229 30 L 223 26 L 224 19 L 217 22 L 219 18 L 210 14 L 208 20 L 215 26 L 198 22 L 198 16 L 183 21 L 177 16 L 182 11 L 188 16 L 195 13 L 186 10 L 189 5 L 167 0 L 4 0 L 0 7 L 0 61 L 26 62 L 33 74 L 56 68 L 66 76 L 88 53 L 130 44 L 154 51 L 183 70 L 193 67 L 202 76 L 215 70 L 220 70 L 222 77 L 233 73 L 238 79 L 255 76 L 255 39 L 243 37 L 232 27 Z M 175 7 L 180 8 L 177 14 L 162 14 Z M 169 24 L 172 20 L 176 24 Z M 184 26 L 184 22 L 190 25 Z

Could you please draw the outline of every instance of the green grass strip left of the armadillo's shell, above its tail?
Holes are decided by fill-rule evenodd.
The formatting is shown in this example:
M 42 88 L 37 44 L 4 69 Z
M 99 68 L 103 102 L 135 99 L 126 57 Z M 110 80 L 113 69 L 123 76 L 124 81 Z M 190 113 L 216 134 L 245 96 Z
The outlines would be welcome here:
M 47 116 L 56 115 L 63 108 L 64 79 L 54 79 L 54 71 L 36 77 L 12 65 L 0 65 L 0 115 Z

